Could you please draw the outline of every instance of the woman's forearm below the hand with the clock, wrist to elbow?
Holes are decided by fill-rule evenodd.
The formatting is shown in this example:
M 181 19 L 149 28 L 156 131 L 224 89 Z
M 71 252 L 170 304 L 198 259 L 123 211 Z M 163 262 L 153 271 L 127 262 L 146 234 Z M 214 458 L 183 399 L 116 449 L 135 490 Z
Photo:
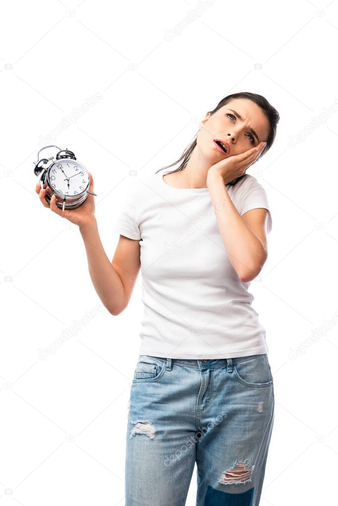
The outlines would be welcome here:
M 95 219 L 79 227 L 84 240 L 88 268 L 96 293 L 102 304 L 112 314 L 123 306 L 124 287 L 120 276 L 109 261 L 100 239 Z

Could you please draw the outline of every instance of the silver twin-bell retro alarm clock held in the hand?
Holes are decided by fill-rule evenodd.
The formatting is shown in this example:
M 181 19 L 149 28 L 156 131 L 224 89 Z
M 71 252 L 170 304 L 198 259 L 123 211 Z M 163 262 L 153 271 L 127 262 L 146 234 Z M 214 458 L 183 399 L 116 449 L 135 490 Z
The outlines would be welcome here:
M 51 158 L 41 158 L 41 151 L 47 148 L 56 148 L 57 154 Z M 97 197 L 96 193 L 89 191 L 89 174 L 82 163 L 69 149 L 60 149 L 50 145 L 40 149 L 37 161 L 34 161 L 34 174 L 40 176 L 39 183 L 42 188 L 49 186 L 51 195 L 46 192 L 46 200 L 51 201 L 55 194 L 56 205 L 64 209 L 79 207 L 87 198 L 88 193 Z

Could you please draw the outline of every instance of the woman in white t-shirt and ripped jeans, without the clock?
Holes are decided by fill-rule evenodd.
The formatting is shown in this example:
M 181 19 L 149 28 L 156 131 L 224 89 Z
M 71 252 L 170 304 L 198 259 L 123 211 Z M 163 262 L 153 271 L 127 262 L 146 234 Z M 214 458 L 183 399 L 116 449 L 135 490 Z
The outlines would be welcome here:
M 267 260 L 272 219 L 264 188 L 245 171 L 272 146 L 278 121 L 260 95 L 222 99 L 167 166 L 181 162 L 175 171 L 135 179 L 114 226 L 120 239 L 111 263 L 93 197 L 63 213 L 52 197 L 53 212 L 79 225 L 91 279 L 111 314 L 127 307 L 142 267 L 127 506 L 185 504 L 195 462 L 199 506 L 259 503 L 274 388 L 248 286 Z

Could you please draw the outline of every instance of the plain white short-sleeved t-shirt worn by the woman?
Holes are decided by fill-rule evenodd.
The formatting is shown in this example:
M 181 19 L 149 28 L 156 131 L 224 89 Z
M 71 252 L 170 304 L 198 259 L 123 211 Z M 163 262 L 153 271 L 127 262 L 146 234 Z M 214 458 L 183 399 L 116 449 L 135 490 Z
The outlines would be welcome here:
M 160 171 L 134 178 L 113 230 L 138 239 L 144 314 L 139 355 L 217 359 L 268 353 L 253 296 L 229 261 L 208 188 L 169 186 Z M 133 179 L 133 178 L 132 178 Z M 268 209 L 246 174 L 226 185 L 236 209 Z

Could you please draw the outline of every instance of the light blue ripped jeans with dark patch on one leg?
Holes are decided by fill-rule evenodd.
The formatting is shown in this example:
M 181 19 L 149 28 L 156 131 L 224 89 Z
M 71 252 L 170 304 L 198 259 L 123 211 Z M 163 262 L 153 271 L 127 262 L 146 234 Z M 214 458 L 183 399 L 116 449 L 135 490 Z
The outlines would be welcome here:
M 214 360 L 140 355 L 130 391 L 126 506 L 257 506 L 274 421 L 266 354 Z

